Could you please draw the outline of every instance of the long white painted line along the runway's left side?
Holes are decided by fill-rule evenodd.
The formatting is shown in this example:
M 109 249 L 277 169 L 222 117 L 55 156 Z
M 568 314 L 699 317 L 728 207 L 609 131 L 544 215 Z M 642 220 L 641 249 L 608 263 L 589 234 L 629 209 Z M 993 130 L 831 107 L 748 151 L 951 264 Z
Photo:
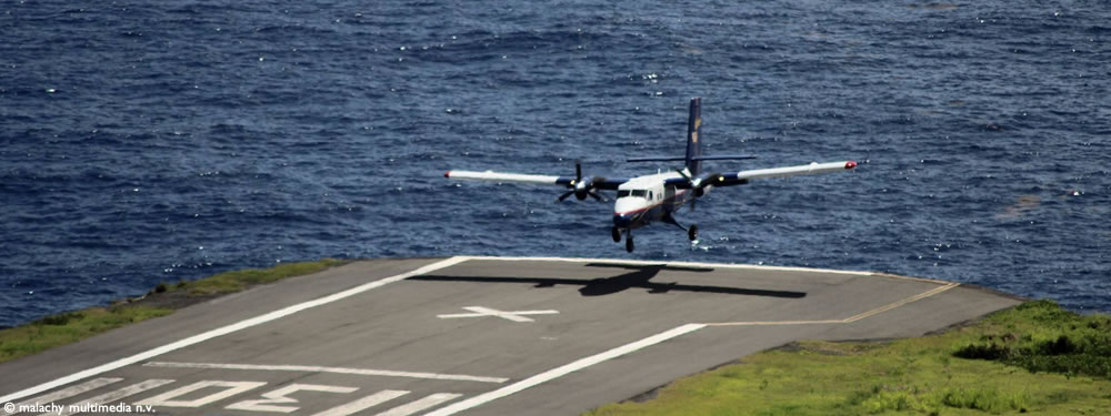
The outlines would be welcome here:
M 317 306 L 329 304 L 329 303 L 332 303 L 332 302 L 336 302 L 336 301 L 340 301 L 340 300 L 343 300 L 343 298 L 347 298 L 347 297 L 351 297 L 351 296 L 358 295 L 360 293 L 363 293 L 363 292 L 367 292 L 367 291 L 370 291 L 370 290 L 373 290 L 373 288 L 378 288 L 378 287 L 384 286 L 384 285 L 390 284 L 390 283 L 403 281 L 406 278 L 409 278 L 409 277 L 412 277 L 412 276 L 416 276 L 416 275 L 431 273 L 431 272 L 438 271 L 440 268 L 453 266 L 456 264 L 466 262 L 468 260 L 469 260 L 469 257 L 451 257 L 451 258 L 442 260 L 442 261 L 439 261 L 439 262 L 426 265 L 423 267 L 413 270 L 411 272 L 402 273 L 402 274 L 390 276 L 390 277 L 380 278 L 380 280 L 377 280 L 377 281 L 363 284 L 363 285 L 359 285 L 359 286 L 349 288 L 347 291 L 338 292 L 338 293 L 334 293 L 334 294 L 331 294 L 331 295 L 328 295 L 328 296 L 324 296 L 324 297 L 316 298 L 316 300 L 312 300 L 312 301 L 302 302 L 302 303 L 299 303 L 299 304 L 296 304 L 296 305 L 292 305 L 292 306 L 287 306 L 287 307 L 283 307 L 281 310 L 278 310 L 278 311 L 273 311 L 273 312 L 270 312 L 270 313 L 267 313 L 267 314 L 263 314 L 263 315 L 259 315 L 259 316 L 256 316 L 256 317 L 252 317 L 252 318 L 248 318 L 248 319 L 243 319 L 243 321 L 237 322 L 234 324 L 221 326 L 219 328 L 211 329 L 211 331 L 198 334 L 198 335 L 193 335 L 193 336 L 190 336 L 188 338 L 177 341 L 174 343 L 170 343 L 170 344 L 167 344 L 167 345 L 163 345 L 163 346 L 160 346 L 160 347 L 157 347 L 157 348 L 152 348 L 152 349 L 149 349 L 149 351 L 146 351 L 146 352 L 142 352 L 142 353 L 139 353 L 139 354 L 136 354 L 136 355 L 132 355 L 132 356 L 129 356 L 129 357 L 120 358 L 120 359 L 117 359 L 117 361 L 113 361 L 113 362 L 110 362 L 110 363 L 107 363 L 107 364 L 102 364 L 102 365 L 99 365 L 99 366 L 96 366 L 96 367 L 92 367 L 92 368 L 89 368 L 89 369 L 86 369 L 86 371 L 82 371 L 82 372 L 73 373 L 73 374 L 70 374 L 70 375 L 64 376 L 64 377 L 60 377 L 60 378 L 57 378 L 57 379 L 53 379 L 53 381 L 50 381 L 50 382 L 47 382 L 47 383 L 42 383 L 42 384 L 39 384 L 37 386 L 33 386 L 33 387 L 24 388 L 22 390 L 16 392 L 16 393 L 11 393 L 11 394 L 4 395 L 4 396 L 0 397 L 0 403 L 14 402 L 14 400 L 17 400 L 19 398 L 23 398 L 23 397 L 30 396 L 32 394 L 38 394 L 38 393 L 42 393 L 42 392 L 49 390 L 51 388 L 61 387 L 61 386 L 64 386 L 67 384 L 73 383 L 73 382 L 79 382 L 79 381 L 82 381 L 82 379 L 88 378 L 88 377 L 100 375 L 100 374 L 103 374 L 103 373 L 107 373 L 107 372 L 111 372 L 113 369 L 118 369 L 118 368 L 121 368 L 121 367 L 124 367 L 124 366 L 128 366 L 128 365 L 132 365 L 132 364 L 136 364 L 136 363 L 139 363 L 139 362 L 142 362 L 142 361 L 150 359 L 152 357 L 156 357 L 156 356 L 169 353 L 169 352 L 181 349 L 181 348 L 188 347 L 188 346 L 193 345 L 193 344 L 199 344 L 199 343 L 212 339 L 212 338 L 218 337 L 218 336 L 231 334 L 233 332 L 237 332 L 237 331 L 240 331 L 240 329 L 244 329 L 244 328 L 249 328 L 249 327 L 252 327 L 252 326 L 258 326 L 258 325 L 261 325 L 261 324 L 274 321 L 274 319 L 279 319 L 279 318 L 282 318 L 282 317 L 296 314 L 298 312 L 301 312 L 301 311 L 304 311 L 304 310 L 308 310 L 308 308 L 311 308 L 311 307 L 317 307 Z

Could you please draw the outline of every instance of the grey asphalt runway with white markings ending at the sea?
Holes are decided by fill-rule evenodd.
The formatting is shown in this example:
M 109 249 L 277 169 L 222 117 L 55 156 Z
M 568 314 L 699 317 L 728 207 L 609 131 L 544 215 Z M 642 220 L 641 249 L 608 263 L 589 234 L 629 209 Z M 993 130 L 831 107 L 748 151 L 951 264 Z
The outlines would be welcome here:
M 867 272 L 360 261 L 2 364 L 0 404 L 23 406 L 0 416 L 94 403 L 164 415 L 575 415 L 791 341 L 915 336 L 1020 302 Z

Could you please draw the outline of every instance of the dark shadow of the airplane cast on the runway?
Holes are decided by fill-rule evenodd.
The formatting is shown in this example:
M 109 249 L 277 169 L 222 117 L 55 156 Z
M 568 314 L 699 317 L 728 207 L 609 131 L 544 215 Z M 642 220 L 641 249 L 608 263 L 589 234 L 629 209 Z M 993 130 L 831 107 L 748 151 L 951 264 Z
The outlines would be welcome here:
M 533 287 L 552 287 L 556 285 L 579 285 L 579 293 L 583 296 L 602 296 L 622 292 L 632 287 L 647 288 L 648 293 L 668 293 L 671 291 L 682 291 L 682 292 L 695 292 L 695 293 L 721 293 L 729 295 L 748 295 L 748 296 L 771 296 L 771 297 L 788 297 L 788 298 L 799 298 L 805 297 L 804 292 L 790 292 L 790 291 L 765 291 L 759 288 L 741 288 L 741 287 L 727 287 L 727 286 L 702 286 L 702 285 L 684 285 L 679 283 L 655 283 L 650 282 L 652 277 L 655 277 L 662 271 L 668 272 L 691 272 L 691 273 L 707 273 L 713 272 L 713 268 L 705 267 L 684 267 L 684 266 L 669 266 L 669 265 L 628 265 L 628 264 L 611 264 L 611 263 L 589 263 L 588 267 L 613 267 L 613 268 L 625 268 L 631 272 L 620 274 L 612 277 L 599 277 L 593 280 L 582 280 L 582 278 L 562 278 L 562 277 L 491 277 L 491 276 L 447 276 L 447 275 L 420 275 L 409 277 L 410 281 L 426 281 L 426 282 L 478 282 L 478 283 L 530 283 Z

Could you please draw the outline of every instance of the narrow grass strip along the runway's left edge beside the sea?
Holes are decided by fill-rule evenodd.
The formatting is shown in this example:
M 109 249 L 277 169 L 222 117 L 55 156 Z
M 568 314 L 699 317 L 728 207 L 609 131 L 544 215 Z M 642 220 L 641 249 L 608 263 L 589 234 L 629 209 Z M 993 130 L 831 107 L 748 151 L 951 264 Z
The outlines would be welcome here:
M 270 268 L 221 273 L 192 282 L 160 283 L 141 298 L 120 301 L 112 306 L 49 315 L 22 326 L 0 329 L 0 363 L 76 343 L 131 323 L 166 316 L 177 308 L 220 294 L 242 291 L 286 277 L 312 274 L 344 263 L 346 261 L 326 258 L 319 262 L 289 263 Z

